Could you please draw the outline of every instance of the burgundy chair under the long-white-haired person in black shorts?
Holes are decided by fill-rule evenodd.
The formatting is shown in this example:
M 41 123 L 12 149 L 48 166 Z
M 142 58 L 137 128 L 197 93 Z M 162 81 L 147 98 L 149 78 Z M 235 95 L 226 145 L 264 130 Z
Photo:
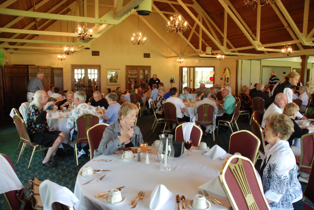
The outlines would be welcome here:
M 27 128 L 25 126 L 25 123 L 23 121 L 23 119 L 19 116 L 19 115 L 14 115 L 13 116 L 13 120 L 14 120 L 14 123 L 15 123 L 15 126 L 16 126 L 16 129 L 18 130 L 18 133 L 19 133 L 19 137 L 20 137 L 20 140 L 23 142 L 23 145 L 22 145 L 22 148 L 21 148 L 21 151 L 19 153 L 19 158 L 18 158 L 18 161 L 17 163 L 19 163 L 19 159 L 21 158 L 21 156 L 23 155 L 24 153 L 24 149 L 26 147 L 32 147 L 33 148 L 33 152 L 30 156 L 30 163 L 28 164 L 28 167 L 27 169 L 30 168 L 30 164 L 33 160 L 33 156 L 36 152 L 41 152 L 41 157 L 43 156 L 43 153 L 42 151 L 45 150 L 45 149 L 48 149 L 48 147 L 45 147 L 45 148 L 41 148 L 41 145 L 39 144 L 36 144 L 36 143 L 33 143 L 30 141 L 30 137 L 28 135 L 28 132 L 27 132 Z M 40 149 L 38 149 L 36 151 L 36 148 L 39 147 Z M 53 160 L 53 156 L 52 156 L 52 160 Z

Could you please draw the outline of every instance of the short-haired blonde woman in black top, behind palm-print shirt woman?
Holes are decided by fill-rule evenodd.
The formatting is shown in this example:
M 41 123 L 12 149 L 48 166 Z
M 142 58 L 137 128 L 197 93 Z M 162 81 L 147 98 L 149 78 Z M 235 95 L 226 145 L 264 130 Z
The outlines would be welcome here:
M 295 117 L 298 111 L 299 111 L 299 106 L 293 102 L 284 105 L 284 114 L 291 118 L 291 121 L 293 122 L 293 125 L 294 125 L 294 132 L 289 137 L 288 142 L 295 156 L 301 155 L 301 148 L 293 146 L 294 138 L 301 138 L 301 136 L 308 133 L 309 130 L 314 130 L 313 126 L 307 126 L 307 127 L 304 127 L 303 129 L 300 128 L 300 126 L 295 122 Z

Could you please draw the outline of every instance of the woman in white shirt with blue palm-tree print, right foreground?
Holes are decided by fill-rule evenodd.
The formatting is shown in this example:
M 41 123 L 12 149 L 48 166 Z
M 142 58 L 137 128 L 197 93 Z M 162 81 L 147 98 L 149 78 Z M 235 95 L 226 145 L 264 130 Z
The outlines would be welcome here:
M 263 190 L 271 209 L 294 209 L 292 203 L 302 199 L 295 163 L 289 143 L 293 122 L 285 114 L 272 113 L 265 118 L 265 157 L 261 164 Z

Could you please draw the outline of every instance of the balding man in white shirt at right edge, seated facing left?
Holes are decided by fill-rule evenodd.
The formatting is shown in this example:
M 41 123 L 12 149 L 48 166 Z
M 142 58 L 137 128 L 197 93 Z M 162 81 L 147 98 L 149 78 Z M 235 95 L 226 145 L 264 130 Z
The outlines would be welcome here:
M 284 93 L 278 93 L 275 97 L 275 101 L 268 106 L 267 110 L 264 113 L 263 120 L 262 120 L 262 128 L 265 128 L 265 121 L 264 119 L 273 112 L 278 112 L 282 114 L 284 111 L 284 105 L 287 104 L 288 97 Z

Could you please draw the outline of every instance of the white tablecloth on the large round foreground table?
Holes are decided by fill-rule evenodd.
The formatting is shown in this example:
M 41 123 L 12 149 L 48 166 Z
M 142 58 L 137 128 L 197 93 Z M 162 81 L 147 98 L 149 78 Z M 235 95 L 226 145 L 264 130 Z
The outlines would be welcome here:
M 78 175 L 74 194 L 80 200 L 79 210 L 130 209 L 128 204 L 136 197 L 139 191 L 144 191 L 145 196 L 143 200 L 139 201 L 136 209 L 149 209 L 151 193 L 159 184 L 165 185 L 173 193 L 172 197 L 160 209 L 176 209 L 176 194 L 186 197 L 187 201 L 185 204 L 186 208 L 189 209 L 188 202 L 193 200 L 195 195 L 198 194 L 198 187 L 219 176 L 225 162 L 222 160 L 212 160 L 209 156 L 202 155 L 203 151 L 194 147 L 192 152 L 190 152 L 191 156 L 182 155 L 173 159 L 172 171 L 160 171 L 157 148 L 153 148 L 152 152 L 153 155 L 149 156 L 150 164 L 145 164 L 145 160 L 141 162 L 137 162 L 136 159 L 124 160 L 121 158 L 121 154 L 101 155 L 94 158 L 113 159 L 111 162 L 89 161 L 86 163 L 84 166 L 111 171 L 98 172 L 91 177 L 81 177 Z M 84 186 L 81 185 L 88 180 L 104 174 L 106 174 L 106 177 L 100 182 L 96 181 Z M 121 204 L 108 204 L 104 201 L 104 198 L 94 197 L 97 194 L 121 186 L 125 186 L 121 192 L 126 196 L 126 201 Z M 231 209 L 227 199 L 218 196 L 214 197 L 220 202 L 223 202 L 224 206 L 212 204 L 211 210 Z M 180 202 L 180 207 L 182 207 L 182 202 Z

